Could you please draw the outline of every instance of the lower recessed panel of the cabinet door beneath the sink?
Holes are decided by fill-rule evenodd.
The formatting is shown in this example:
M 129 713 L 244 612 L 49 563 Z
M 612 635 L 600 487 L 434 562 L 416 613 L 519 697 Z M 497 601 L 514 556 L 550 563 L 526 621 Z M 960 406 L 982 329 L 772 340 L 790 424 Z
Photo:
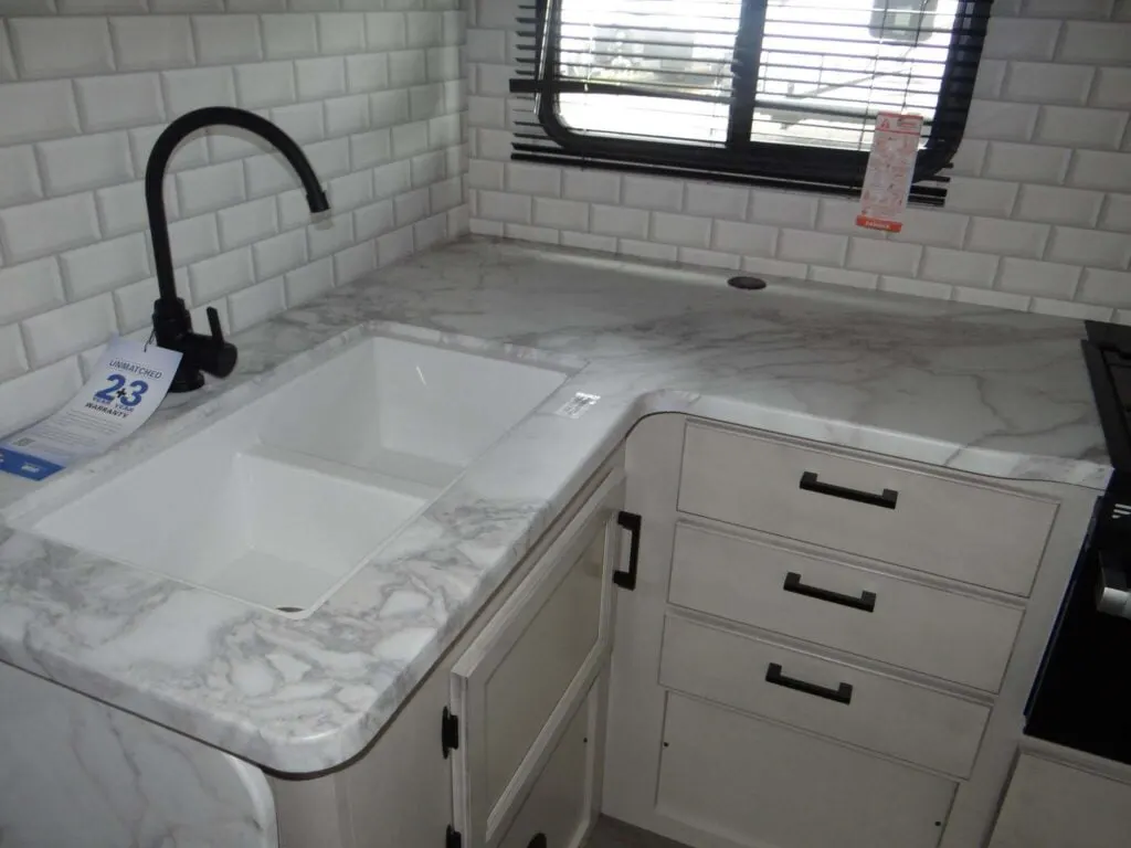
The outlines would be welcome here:
M 577 848 L 589 829 L 587 704 L 573 716 L 499 848 Z M 406 847 L 407 848 L 407 847 Z

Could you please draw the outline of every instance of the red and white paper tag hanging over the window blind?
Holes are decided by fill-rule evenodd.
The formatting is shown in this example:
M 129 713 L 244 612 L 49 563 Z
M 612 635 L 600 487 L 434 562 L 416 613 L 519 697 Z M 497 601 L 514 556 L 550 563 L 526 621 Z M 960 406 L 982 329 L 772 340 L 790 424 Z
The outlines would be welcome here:
M 915 161 L 923 136 L 922 115 L 881 112 L 875 119 L 872 153 L 860 197 L 856 225 L 898 233 L 915 178 Z

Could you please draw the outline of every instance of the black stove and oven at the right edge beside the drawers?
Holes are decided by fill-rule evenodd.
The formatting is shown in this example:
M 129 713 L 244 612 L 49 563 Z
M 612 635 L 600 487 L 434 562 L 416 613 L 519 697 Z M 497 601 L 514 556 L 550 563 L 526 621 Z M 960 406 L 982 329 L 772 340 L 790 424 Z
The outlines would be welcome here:
M 1114 471 L 1045 650 L 1025 732 L 1131 764 L 1131 327 L 1086 328 L 1083 357 Z

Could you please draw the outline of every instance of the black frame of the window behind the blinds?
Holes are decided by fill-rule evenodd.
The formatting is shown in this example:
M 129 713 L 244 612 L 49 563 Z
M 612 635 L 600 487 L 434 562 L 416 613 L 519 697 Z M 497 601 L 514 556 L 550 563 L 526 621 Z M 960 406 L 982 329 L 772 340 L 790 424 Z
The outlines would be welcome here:
M 992 0 L 959 0 L 956 25 L 943 69 L 935 120 L 916 159 L 913 184 L 943 180 L 946 170 L 961 142 L 974 95 L 974 83 L 985 40 Z M 561 43 L 562 0 L 537 0 L 534 45 L 534 79 L 515 80 L 511 90 L 541 95 L 535 116 L 541 129 L 560 150 L 516 140 L 516 159 L 586 167 L 648 172 L 663 175 L 727 180 L 778 188 L 810 189 L 824 193 L 856 194 L 867 167 L 867 150 L 787 145 L 756 141 L 750 138 L 757 99 L 759 67 L 742 61 L 743 55 L 760 57 L 768 0 L 742 0 L 739 33 L 735 38 L 734 94 L 725 145 L 697 145 L 599 137 L 570 129 L 558 113 L 558 95 L 573 92 L 631 93 L 631 87 L 601 83 L 578 83 L 556 77 Z M 549 15 L 549 19 L 547 19 Z M 970 43 L 973 40 L 973 44 Z M 539 70 L 545 70 L 543 76 Z M 944 191 L 913 188 L 912 200 L 941 204 Z

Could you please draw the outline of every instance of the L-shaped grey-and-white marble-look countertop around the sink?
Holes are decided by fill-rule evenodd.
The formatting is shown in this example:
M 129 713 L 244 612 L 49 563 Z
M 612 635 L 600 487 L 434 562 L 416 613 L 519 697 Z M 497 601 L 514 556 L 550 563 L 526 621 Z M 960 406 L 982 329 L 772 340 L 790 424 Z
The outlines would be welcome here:
M 680 412 L 1002 478 L 1111 473 L 1078 321 L 466 241 L 235 339 L 226 381 L 9 512 L 89 488 L 369 329 L 517 345 L 584 367 L 308 618 L 0 526 L 0 660 L 261 765 L 361 751 L 642 416 Z M 392 322 L 398 327 L 389 327 Z M 464 339 L 461 344 L 466 344 Z M 554 410 L 601 396 L 578 419 Z M 5 477 L 5 475 L 0 475 Z

